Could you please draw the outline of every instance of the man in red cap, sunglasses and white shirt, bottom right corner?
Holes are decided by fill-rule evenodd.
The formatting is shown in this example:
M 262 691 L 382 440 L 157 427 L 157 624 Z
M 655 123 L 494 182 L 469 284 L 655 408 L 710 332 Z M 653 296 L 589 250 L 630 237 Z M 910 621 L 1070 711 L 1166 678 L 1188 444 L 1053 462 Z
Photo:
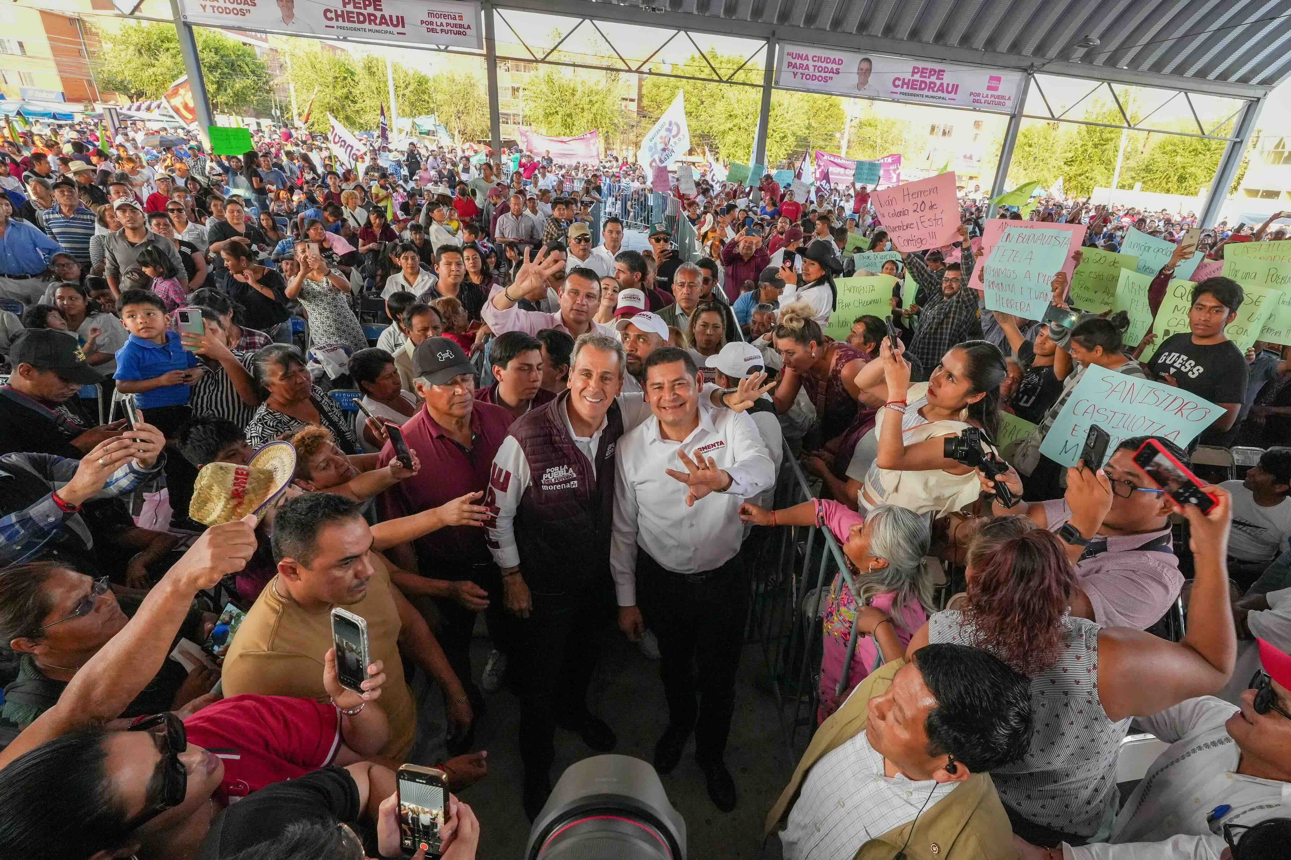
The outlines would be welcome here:
M 1121 807 L 1108 843 L 1044 860 L 1219 860 L 1224 825 L 1285 816 L 1291 802 L 1291 656 L 1259 642 L 1264 673 L 1238 708 L 1214 696 L 1188 699 L 1139 723 L 1170 744 Z

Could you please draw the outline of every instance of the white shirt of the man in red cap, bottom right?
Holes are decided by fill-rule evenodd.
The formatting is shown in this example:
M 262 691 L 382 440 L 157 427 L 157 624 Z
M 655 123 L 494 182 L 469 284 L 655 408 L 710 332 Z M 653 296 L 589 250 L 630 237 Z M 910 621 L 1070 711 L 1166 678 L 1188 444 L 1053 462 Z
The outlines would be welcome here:
M 1121 807 L 1110 841 L 1064 845 L 1065 860 L 1219 860 L 1224 824 L 1286 815 L 1291 783 L 1235 772 L 1242 750 L 1224 727 L 1235 712 L 1226 701 L 1201 696 L 1140 717 L 1144 730 L 1170 747 Z M 1232 808 L 1210 824 L 1220 806 Z

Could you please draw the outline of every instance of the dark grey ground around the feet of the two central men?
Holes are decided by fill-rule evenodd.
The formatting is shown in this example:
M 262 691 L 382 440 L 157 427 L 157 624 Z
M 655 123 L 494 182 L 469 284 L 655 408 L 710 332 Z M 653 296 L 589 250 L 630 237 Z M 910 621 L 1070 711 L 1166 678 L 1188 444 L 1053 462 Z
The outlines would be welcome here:
M 484 665 L 487 654 L 487 642 L 476 640 L 476 672 Z M 669 799 L 686 819 L 687 856 L 691 859 L 778 860 L 781 856 L 777 839 L 762 847 L 762 823 L 797 762 L 790 762 L 785 752 L 775 700 L 766 692 L 762 678 L 762 647 L 750 645 L 740 664 L 735 723 L 727 752 L 727 766 L 740 792 L 735 811 L 719 812 L 709 799 L 704 774 L 695 763 L 693 741 L 676 770 L 662 777 Z M 519 699 L 500 691 L 488 695 L 488 705 L 476 740 L 480 748 L 488 749 L 489 775 L 467 789 L 462 799 L 480 819 L 480 856 L 519 860 L 529 834 L 529 823 L 520 806 Z M 617 732 L 615 752 L 651 761 L 655 741 L 667 722 L 658 664 L 616 636 L 593 681 L 591 709 Z M 591 754 L 576 735 L 558 730 L 553 783 L 565 767 Z

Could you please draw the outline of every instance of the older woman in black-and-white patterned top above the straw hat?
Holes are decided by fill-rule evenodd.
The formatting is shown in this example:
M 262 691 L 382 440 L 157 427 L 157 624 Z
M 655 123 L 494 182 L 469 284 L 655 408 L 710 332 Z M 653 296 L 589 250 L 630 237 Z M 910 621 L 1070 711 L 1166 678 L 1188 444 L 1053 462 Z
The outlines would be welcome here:
M 359 453 L 341 407 L 314 386 L 296 347 L 285 343 L 265 347 L 252 357 L 250 367 L 252 378 L 265 397 L 247 425 L 247 441 L 252 446 L 259 447 L 283 433 L 318 424 L 332 433 L 343 453 Z

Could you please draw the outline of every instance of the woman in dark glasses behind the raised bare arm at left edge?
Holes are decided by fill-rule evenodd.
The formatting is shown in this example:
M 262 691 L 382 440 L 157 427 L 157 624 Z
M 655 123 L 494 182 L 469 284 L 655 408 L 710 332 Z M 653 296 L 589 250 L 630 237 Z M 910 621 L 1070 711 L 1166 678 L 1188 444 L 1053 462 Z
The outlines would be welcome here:
M 90 579 L 61 561 L 35 561 L 0 571 L 0 637 L 21 655 L 18 678 L 5 689 L 0 717 L 26 728 L 49 710 L 77 669 L 125 627 L 141 598 L 117 602 L 107 578 Z M 188 612 L 179 636 L 203 642 L 213 618 Z M 168 659 L 121 717 L 177 710 L 210 691 L 219 674 L 191 674 Z

